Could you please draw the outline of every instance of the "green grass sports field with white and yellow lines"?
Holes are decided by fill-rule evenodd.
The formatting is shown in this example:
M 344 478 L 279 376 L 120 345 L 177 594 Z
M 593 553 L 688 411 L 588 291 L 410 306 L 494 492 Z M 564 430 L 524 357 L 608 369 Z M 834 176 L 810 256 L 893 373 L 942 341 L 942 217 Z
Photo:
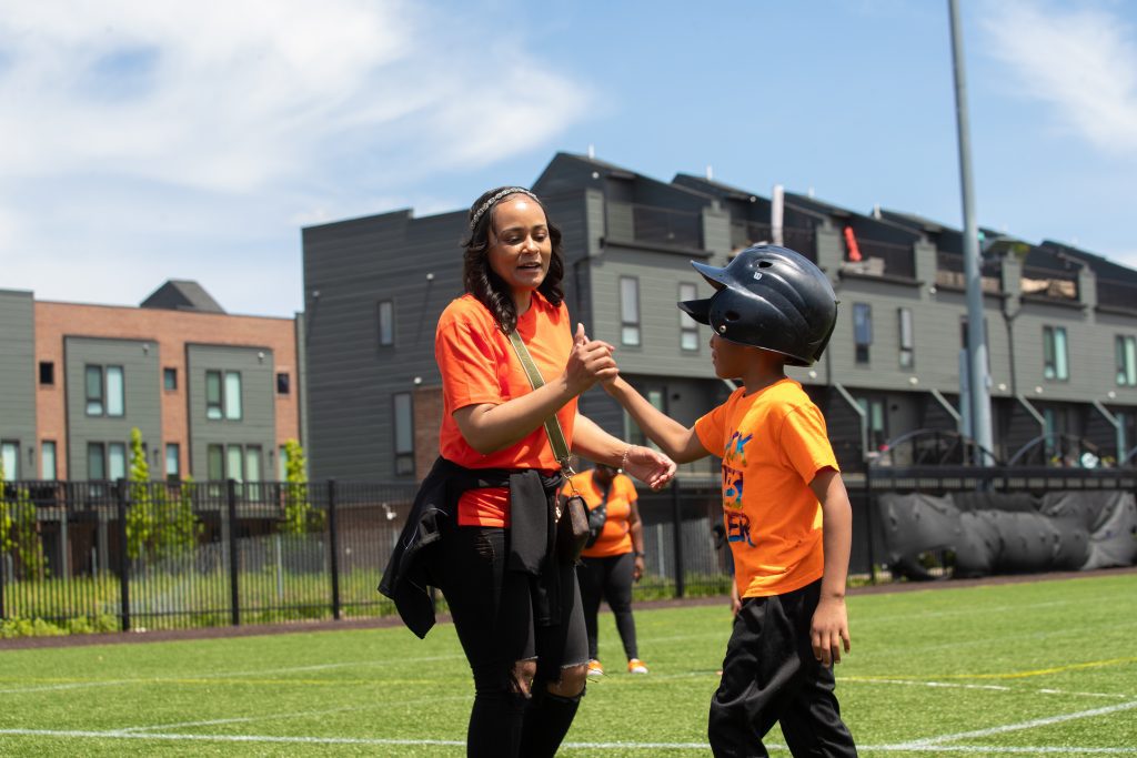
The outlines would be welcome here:
M 849 598 L 837 668 L 863 756 L 1137 756 L 1137 574 Z M 722 606 L 640 609 L 648 676 L 589 685 L 565 756 L 705 756 Z M 0 755 L 462 756 L 450 625 L 0 652 Z M 777 730 L 774 755 L 788 755 Z

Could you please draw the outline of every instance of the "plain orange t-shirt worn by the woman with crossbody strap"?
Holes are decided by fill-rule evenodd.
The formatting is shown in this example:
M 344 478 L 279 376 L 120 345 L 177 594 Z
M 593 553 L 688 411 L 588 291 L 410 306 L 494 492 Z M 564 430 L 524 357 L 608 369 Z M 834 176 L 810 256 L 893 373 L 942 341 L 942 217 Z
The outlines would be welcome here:
M 554 306 L 534 291 L 529 310 L 517 318 L 517 333 L 545 381 L 559 376 L 572 351 L 565 305 Z M 434 335 L 434 359 L 442 374 L 439 451 L 443 458 L 466 468 L 538 468 L 548 474 L 561 468 L 545 426 L 538 426 L 504 450 L 484 456 L 471 448 L 458 431 L 455 410 L 483 402 L 500 405 L 533 391 L 509 338 L 473 295 L 453 300 L 442 311 Z M 571 449 L 575 398 L 557 411 L 557 418 Z M 458 524 L 508 526 L 509 490 L 468 490 L 458 501 Z

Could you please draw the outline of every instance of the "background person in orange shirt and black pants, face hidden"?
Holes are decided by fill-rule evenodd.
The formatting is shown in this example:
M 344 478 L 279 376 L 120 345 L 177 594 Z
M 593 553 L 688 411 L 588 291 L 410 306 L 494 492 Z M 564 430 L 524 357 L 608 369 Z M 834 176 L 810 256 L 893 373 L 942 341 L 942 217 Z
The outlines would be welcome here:
M 647 674 L 647 664 L 639 657 L 632 617 L 632 584 L 644 575 L 644 526 L 636 485 L 620 469 L 597 464 L 592 470 L 573 476 L 565 490 L 570 494 L 579 492 L 590 511 L 603 507 L 605 513 L 604 528 L 596 542 L 584 548 L 576 573 L 588 630 L 588 675 L 604 676 L 597 655 L 597 614 L 601 599 L 607 600 L 616 617 L 616 631 L 628 657 L 628 673 Z

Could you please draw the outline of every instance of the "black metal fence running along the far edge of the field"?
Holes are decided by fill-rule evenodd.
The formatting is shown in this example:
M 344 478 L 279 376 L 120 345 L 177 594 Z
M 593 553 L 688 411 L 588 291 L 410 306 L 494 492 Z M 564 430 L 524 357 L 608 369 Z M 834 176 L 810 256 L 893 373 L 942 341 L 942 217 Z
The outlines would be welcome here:
M 848 474 L 846 485 L 849 570 L 875 580 L 881 492 L 1134 492 L 1137 470 L 871 467 Z M 0 488 L 0 620 L 43 619 L 76 632 L 391 615 L 375 588 L 416 489 L 335 481 Z M 647 570 L 637 599 L 727 593 L 721 500 L 717 478 L 706 477 L 640 492 Z

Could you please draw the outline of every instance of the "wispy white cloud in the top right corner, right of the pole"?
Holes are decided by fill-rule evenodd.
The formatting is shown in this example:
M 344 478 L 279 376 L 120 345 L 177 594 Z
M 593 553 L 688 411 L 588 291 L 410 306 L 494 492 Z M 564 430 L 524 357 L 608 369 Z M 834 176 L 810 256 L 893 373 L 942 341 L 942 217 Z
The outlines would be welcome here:
M 1096 148 L 1137 155 L 1137 34 L 1103 8 L 999 0 L 985 6 L 988 50 L 1023 94 Z

